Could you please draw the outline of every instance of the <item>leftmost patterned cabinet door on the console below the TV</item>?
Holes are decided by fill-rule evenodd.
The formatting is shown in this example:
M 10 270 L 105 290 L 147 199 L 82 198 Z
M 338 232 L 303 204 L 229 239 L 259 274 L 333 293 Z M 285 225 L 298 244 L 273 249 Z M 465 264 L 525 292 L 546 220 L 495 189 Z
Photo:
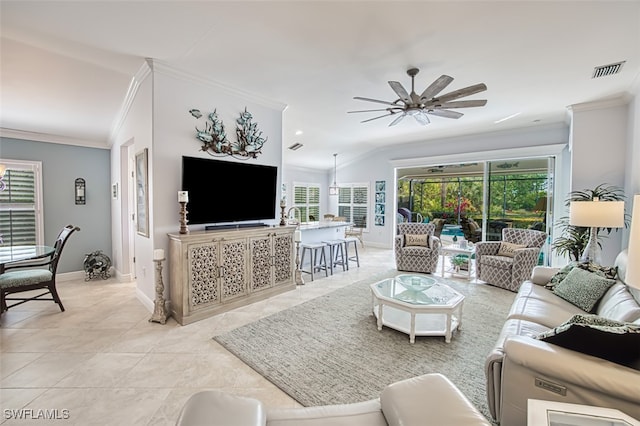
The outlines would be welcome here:
M 190 244 L 187 247 L 189 268 L 189 308 L 198 310 L 220 303 L 218 280 L 219 244 Z

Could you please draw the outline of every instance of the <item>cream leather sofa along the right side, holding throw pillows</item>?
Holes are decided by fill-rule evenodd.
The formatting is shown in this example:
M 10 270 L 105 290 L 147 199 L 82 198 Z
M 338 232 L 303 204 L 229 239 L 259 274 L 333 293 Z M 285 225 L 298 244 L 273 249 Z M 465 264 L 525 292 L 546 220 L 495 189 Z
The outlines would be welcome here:
M 640 293 L 624 283 L 626 251 L 618 255 L 615 265 L 618 279 L 600 299 L 595 313 L 640 324 Z M 491 415 L 503 426 L 526 425 L 527 400 L 532 398 L 615 408 L 640 419 L 640 365 L 620 365 L 534 338 L 575 314 L 586 314 L 545 288 L 557 271 L 534 269 L 531 280 L 520 287 L 486 359 Z

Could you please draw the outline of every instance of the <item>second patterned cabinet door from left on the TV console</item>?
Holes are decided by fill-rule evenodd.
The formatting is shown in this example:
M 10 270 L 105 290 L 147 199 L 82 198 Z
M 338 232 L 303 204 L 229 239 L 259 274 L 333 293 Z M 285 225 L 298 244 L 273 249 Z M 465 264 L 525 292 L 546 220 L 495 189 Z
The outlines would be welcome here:
M 222 300 L 247 294 L 247 239 L 220 241 Z

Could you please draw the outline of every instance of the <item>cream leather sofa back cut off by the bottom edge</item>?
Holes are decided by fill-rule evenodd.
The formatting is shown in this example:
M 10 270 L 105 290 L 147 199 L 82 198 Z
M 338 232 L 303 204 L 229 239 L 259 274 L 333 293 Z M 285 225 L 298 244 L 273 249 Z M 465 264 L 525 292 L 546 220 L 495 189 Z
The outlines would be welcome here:
M 266 409 L 254 398 L 201 391 L 185 403 L 177 426 L 490 426 L 441 374 L 387 386 L 379 399 L 355 404 Z

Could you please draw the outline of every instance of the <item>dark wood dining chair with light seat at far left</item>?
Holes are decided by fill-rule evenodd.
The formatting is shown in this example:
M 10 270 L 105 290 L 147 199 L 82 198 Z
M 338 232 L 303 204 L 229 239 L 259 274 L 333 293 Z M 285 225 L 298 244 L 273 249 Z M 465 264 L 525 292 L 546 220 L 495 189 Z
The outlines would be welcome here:
M 37 261 L 15 262 L 5 266 L 5 273 L 0 275 L 0 313 L 30 300 L 52 300 L 56 302 L 58 306 L 60 306 L 60 310 L 64 312 L 64 306 L 56 290 L 56 271 L 62 249 L 67 239 L 75 231 L 79 230 L 80 228 L 73 225 L 67 225 L 62 228 L 53 245 L 55 250 L 48 258 L 38 259 Z M 47 268 L 42 268 L 43 266 Z M 37 296 L 7 297 L 15 293 L 44 289 L 46 289 L 46 291 Z M 51 298 L 43 298 L 43 296 L 48 294 L 51 294 Z M 7 300 L 15 300 L 18 302 L 7 305 Z

